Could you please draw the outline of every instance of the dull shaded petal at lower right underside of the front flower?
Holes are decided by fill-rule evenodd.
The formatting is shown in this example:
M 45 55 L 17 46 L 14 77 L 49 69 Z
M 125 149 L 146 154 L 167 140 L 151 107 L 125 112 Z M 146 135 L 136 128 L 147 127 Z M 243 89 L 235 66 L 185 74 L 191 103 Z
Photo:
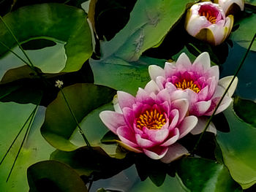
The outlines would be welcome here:
M 182 145 L 175 143 L 168 147 L 168 151 L 161 161 L 165 164 L 170 164 L 171 161 L 180 158 L 182 155 L 189 155 L 189 151 Z

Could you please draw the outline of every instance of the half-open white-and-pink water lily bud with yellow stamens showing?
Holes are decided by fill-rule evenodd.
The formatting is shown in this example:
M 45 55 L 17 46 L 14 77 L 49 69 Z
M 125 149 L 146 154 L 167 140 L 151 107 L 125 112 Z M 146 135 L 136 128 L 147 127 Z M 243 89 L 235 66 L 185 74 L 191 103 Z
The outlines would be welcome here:
M 185 28 L 193 37 L 219 45 L 225 41 L 233 27 L 233 15 L 225 16 L 219 4 L 209 1 L 194 4 L 187 12 Z

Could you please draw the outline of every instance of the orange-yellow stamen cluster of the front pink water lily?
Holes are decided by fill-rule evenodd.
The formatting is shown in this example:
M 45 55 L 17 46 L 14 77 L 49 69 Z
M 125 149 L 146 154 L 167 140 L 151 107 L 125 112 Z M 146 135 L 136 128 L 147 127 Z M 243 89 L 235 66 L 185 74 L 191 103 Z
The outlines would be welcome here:
M 157 110 L 146 110 L 136 120 L 137 128 L 143 128 L 144 126 L 148 129 L 159 129 L 162 128 L 166 123 L 165 115 L 158 112 Z

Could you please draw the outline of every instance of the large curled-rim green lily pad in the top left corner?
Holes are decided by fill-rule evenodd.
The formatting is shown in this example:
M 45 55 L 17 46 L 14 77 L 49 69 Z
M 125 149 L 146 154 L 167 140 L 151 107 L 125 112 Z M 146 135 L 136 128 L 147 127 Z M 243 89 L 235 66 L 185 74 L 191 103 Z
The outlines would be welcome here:
M 91 31 L 86 21 L 86 13 L 82 9 L 65 4 L 36 4 L 8 13 L 4 16 L 4 22 L 10 26 L 20 43 L 34 39 L 48 39 L 57 43 L 56 46 L 42 50 L 26 50 L 34 65 L 42 68 L 43 72 L 77 71 L 91 56 Z M 15 39 L 2 22 L 0 40 L 23 58 Z M 4 66 L 5 70 L 21 64 L 11 53 L 7 53 L 7 48 L 1 45 L 1 60 L 8 66 Z

